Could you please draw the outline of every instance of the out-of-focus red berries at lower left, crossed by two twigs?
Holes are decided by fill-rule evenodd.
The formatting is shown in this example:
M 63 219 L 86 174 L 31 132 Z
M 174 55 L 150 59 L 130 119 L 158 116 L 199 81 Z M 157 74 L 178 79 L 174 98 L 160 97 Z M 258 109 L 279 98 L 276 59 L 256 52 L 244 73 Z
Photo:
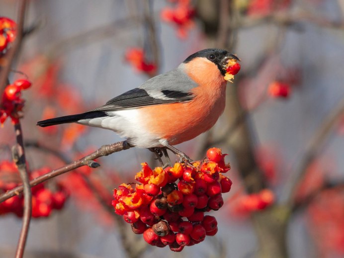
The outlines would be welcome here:
M 49 172 L 49 168 L 42 168 L 31 172 L 31 179 Z M 6 192 L 21 184 L 21 180 L 14 163 L 2 161 L 0 163 L 0 193 Z M 52 186 L 49 184 L 49 186 Z M 63 208 L 69 194 L 62 184 L 55 184 L 54 191 L 48 189 L 44 183 L 31 188 L 32 217 L 48 217 L 53 209 Z M 23 196 L 16 195 L 0 203 L 0 215 L 14 213 L 23 216 Z

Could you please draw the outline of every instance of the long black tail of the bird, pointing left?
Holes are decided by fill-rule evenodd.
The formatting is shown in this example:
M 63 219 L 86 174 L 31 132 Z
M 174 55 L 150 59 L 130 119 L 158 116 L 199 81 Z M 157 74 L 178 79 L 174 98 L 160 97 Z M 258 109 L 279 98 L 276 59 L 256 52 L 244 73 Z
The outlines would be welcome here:
M 103 111 L 90 111 L 90 112 L 86 112 L 82 114 L 66 115 L 66 116 L 39 121 L 37 122 L 37 125 L 41 127 L 47 127 L 47 126 L 57 125 L 57 124 L 74 123 L 82 119 L 91 119 L 91 118 L 104 117 L 104 116 L 107 116 L 107 115 Z

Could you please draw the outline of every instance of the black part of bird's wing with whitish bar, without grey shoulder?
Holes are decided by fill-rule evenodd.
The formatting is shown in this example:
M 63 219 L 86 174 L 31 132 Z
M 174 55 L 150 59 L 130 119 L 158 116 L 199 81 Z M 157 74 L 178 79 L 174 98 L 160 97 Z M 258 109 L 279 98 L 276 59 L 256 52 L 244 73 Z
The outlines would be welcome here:
M 176 102 L 190 101 L 193 95 L 190 92 L 177 90 L 146 91 L 143 88 L 134 88 L 106 102 L 105 105 L 91 111 L 111 111 L 126 108 L 152 106 Z

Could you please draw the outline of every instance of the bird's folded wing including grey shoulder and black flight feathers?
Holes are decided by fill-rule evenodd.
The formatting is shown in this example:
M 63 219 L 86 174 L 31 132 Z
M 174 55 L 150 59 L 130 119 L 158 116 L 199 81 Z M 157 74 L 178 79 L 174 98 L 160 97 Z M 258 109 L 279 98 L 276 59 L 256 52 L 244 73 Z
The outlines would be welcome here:
M 198 85 L 184 73 L 180 73 L 179 69 L 153 77 L 140 87 L 124 92 L 91 111 L 112 111 L 190 101 L 194 97 L 191 89 Z

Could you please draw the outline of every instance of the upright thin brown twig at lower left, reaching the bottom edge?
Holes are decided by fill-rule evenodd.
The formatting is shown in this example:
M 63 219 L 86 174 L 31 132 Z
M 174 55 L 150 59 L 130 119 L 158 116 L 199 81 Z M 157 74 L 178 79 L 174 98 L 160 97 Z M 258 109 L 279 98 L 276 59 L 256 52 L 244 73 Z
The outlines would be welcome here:
M 23 212 L 23 224 L 20 231 L 18 240 L 17 251 L 15 258 L 22 258 L 24 255 L 25 244 L 27 235 L 29 232 L 29 225 L 31 220 L 32 201 L 31 201 L 31 188 L 29 182 L 29 174 L 26 167 L 26 159 L 23 144 L 23 135 L 20 126 L 20 122 L 14 124 L 14 130 L 16 135 L 17 144 L 12 148 L 13 161 L 15 162 L 20 178 L 23 182 L 24 191 L 24 212 Z

